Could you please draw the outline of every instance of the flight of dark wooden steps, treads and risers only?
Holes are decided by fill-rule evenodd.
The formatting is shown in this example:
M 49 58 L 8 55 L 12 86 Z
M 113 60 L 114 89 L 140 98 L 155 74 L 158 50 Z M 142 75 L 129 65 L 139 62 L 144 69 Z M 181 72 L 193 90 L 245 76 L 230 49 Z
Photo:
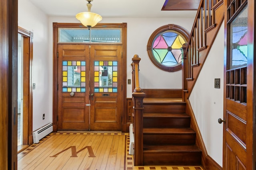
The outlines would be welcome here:
M 144 98 L 144 165 L 200 165 L 201 150 L 181 98 Z

